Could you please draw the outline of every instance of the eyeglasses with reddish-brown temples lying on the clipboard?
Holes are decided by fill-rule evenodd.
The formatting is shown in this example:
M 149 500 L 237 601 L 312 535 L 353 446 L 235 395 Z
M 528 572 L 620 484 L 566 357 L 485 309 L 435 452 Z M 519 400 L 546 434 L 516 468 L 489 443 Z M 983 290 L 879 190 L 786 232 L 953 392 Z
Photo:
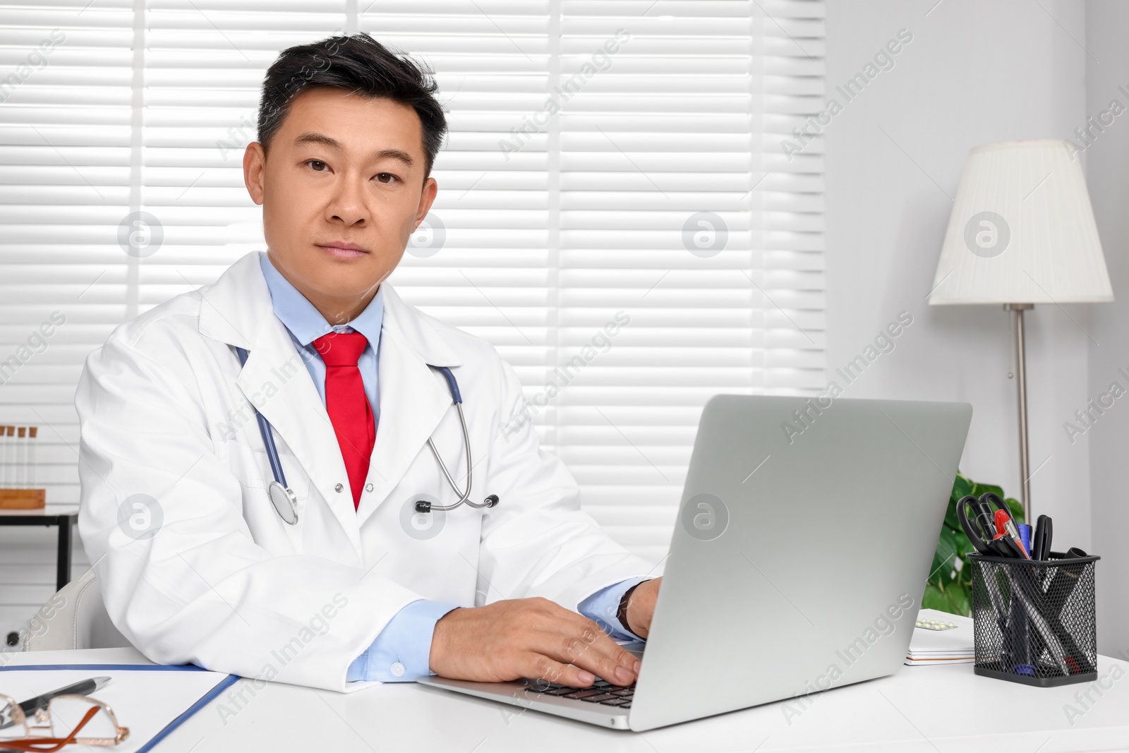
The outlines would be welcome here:
M 117 745 L 130 736 L 108 706 L 87 695 L 56 695 L 47 708 L 35 710 L 34 721 L 28 723 L 15 699 L 0 694 L 0 750 L 52 753 L 72 743 Z

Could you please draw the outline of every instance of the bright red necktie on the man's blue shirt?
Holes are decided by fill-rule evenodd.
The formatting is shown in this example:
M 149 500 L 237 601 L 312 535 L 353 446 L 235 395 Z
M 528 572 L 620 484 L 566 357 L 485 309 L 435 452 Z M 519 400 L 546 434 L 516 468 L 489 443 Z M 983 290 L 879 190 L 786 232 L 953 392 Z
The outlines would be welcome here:
M 325 361 L 325 410 L 345 462 L 353 509 L 360 505 L 360 490 L 376 441 L 373 406 L 365 396 L 365 383 L 357 368 L 357 359 L 367 344 L 368 340 L 360 332 L 331 332 L 314 341 L 314 348 Z

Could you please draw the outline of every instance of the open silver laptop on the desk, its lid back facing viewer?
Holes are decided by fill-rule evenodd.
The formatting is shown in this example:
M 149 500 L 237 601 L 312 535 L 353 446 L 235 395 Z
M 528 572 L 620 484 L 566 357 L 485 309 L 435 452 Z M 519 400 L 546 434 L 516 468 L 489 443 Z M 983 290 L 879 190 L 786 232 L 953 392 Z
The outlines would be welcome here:
M 633 688 L 420 682 L 646 730 L 896 672 L 972 406 L 829 402 L 707 403 Z

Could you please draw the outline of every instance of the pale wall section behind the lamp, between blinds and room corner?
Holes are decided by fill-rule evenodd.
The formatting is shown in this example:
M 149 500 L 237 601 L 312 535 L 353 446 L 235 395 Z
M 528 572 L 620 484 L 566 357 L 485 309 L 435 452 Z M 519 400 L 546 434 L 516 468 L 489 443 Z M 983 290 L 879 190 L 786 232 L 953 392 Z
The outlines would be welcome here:
M 914 323 L 896 350 L 875 361 L 847 396 L 971 403 L 961 470 L 1018 498 L 1015 380 L 1007 378 L 1010 315 L 996 306 L 930 308 L 925 298 L 969 148 L 1069 138 L 1084 123 L 1085 3 L 935 3 L 828 2 L 831 94 L 900 28 L 913 35 L 894 67 L 847 103 L 825 131 L 829 373 L 908 310 Z M 1106 29 L 1111 44 L 1126 28 L 1122 23 Z M 1115 294 L 1126 290 L 1114 284 Z M 1084 330 L 1092 327 L 1093 310 L 1041 306 L 1027 316 L 1032 469 L 1047 461 L 1032 478 L 1032 505 L 1036 515 L 1054 517 L 1056 549 L 1089 550 L 1094 543 L 1089 445 L 1071 446 L 1062 430 L 1091 394 Z M 1129 431 L 1129 408 L 1123 410 Z M 1111 579 L 1100 576 L 1108 587 Z M 1110 634 L 1104 614 L 1100 632 Z

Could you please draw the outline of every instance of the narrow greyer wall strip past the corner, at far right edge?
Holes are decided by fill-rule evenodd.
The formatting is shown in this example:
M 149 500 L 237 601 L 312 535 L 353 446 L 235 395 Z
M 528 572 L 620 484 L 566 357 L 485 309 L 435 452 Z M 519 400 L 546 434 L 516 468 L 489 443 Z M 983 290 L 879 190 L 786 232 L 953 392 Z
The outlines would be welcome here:
M 1129 3 L 1123 0 L 1089 0 L 1086 3 L 1086 112 L 1095 117 L 1118 99 L 1129 107 Z M 1117 371 L 1129 373 L 1129 113 L 1118 116 L 1085 151 L 1091 201 L 1102 236 L 1106 264 L 1117 301 L 1091 313 L 1091 334 L 1099 344 L 1089 348 L 1089 396 L 1109 389 L 1111 382 L 1129 386 Z M 1094 553 L 1102 555 L 1097 633 L 1102 653 L 1120 656 L 1129 651 L 1129 401 L 1114 408 L 1086 432 L 1089 441 L 1089 475 L 1093 492 Z

